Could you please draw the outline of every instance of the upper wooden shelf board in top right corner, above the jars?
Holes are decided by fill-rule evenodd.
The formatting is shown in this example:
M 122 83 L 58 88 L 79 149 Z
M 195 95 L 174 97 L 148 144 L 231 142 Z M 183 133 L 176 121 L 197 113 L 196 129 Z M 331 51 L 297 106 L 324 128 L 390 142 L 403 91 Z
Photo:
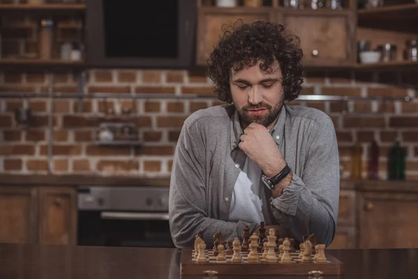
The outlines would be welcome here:
M 358 10 L 358 26 L 390 31 L 418 33 L 418 4 Z

